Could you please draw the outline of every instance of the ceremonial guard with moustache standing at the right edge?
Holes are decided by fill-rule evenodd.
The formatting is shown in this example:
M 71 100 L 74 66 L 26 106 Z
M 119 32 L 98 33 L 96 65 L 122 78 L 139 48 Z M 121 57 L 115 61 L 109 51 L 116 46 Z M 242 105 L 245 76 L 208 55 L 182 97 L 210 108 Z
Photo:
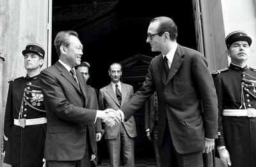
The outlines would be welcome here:
M 251 44 L 243 31 L 228 34 L 230 66 L 212 71 L 219 110 L 216 146 L 225 166 L 256 166 L 256 70 L 246 64 Z

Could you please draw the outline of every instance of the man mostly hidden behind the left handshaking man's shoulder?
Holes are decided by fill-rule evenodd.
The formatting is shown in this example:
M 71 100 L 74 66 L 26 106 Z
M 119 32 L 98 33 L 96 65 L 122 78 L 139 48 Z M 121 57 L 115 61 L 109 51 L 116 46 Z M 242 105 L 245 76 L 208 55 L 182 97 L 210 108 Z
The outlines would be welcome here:
M 88 62 L 81 62 L 81 64 L 79 66 L 76 66 L 77 71 L 79 71 L 80 73 L 83 74 L 84 76 L 84 80 L 86 83 L 86 87 L 88 90 L 88 94 L 90 96 L 90 99 L 92 99 L 90 101 L 90 108 L 92 109 L 99 109 L 99 105 L 98 105 L 98 96 L 97 96 L 97 89 L 91 87 L 90 85 L 87 84 L 87 80 L 90 77 L 90 73 L 89 73 L 89 69 L 90 69 L 90 64 Z M 97 148 L 97 143 L 99 142 L 102 138 L 102 126 L 101 126 L 101 121 L 100 119 L 97 119 L 95 127 L 94 126 L 89 126 L 89 130 L 90 130 L 90 142 L 92 144 L 92 150 L 93 150 L 93 154 L 92 154 L 92 160 L 95 159 L 95 161 L 99 161 L 99 147 Z M 96 135 L 96 136 L 95 136 Z M 95 138 L 96 137 L 96 138 Z M 99 146 L 99 145 L 98 145 Z M 95 158 L 95 156 L 97 155 L 97 158 Z M 94 162 L 95 162 L 94 161 Z

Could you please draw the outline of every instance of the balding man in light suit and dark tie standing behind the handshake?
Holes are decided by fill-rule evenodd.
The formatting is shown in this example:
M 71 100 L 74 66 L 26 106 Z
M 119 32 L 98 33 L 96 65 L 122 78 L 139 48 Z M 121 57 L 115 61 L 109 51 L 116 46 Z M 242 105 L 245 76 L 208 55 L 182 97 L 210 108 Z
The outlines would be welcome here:
M 113 108 L 118 110 L 124 103 L 129 101 L 133 94 L 131 85 L 120 82 L 122 66 L 113 63 L 109 67 L 111 83 L 99 91 L 99 108 Z M 124 166 L 134 166 L 134 138 L 137 136 L 134 117 L 131 115 L 127 122 L 122 122 L 115 127 L 105 126 L 104 133 L 109 150 L 111 166 L 120 166 L 120 149 L 122 145 L 124 154 Z

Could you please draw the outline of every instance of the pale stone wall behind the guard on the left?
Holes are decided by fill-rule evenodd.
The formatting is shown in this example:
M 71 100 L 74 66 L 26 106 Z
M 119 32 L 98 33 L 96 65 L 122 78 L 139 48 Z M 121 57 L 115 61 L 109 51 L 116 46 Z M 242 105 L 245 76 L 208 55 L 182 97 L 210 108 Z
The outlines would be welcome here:
M 37 42 L 45 48 L 47 54 L 49 2 L 51 0 L 0 0 L 1 143 L 3 142 L 3 122 L 8 81 L 19 76 L 26 76 L 22 50 L 24 50 L 27 43 Z M 42 68 L 47 66 L 47 56 L 45 57 L 45 64 Z

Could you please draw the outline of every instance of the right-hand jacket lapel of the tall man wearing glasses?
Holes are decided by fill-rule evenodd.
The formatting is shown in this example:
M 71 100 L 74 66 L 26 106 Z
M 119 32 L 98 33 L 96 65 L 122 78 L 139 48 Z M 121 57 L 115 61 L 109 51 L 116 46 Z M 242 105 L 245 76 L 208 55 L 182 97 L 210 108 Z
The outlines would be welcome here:
M 182 52 L 180 46 L 178 45 L 177 50 L 174 54 L 172 66 L 170 68 L 170 71 L 167 76 L 167 80 L 166 80 L 165 84 L 167 84 L 172 79 L 172 77 L 175 75 L 175 73 L 177 73 L 177 71 L 179 70 L 179 68 L 183 62 L 183 59 L 182 59 L 183 55 L 184 55 L 184 53 Z

